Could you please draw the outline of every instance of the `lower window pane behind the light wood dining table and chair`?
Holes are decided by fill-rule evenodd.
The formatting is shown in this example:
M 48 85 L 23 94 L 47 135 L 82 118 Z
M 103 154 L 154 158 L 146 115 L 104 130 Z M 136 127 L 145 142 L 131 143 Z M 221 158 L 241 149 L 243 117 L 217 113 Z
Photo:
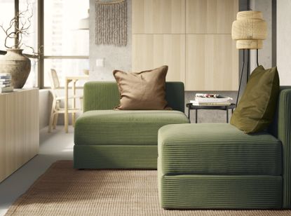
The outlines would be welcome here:
M 44 86 L 50 86 L 48 73 L 55 69 L 60 80 L 60 85 L 65 86 L 65 76 L 85 75 L 84 69 L 89 68 L 88 59 L 45 59 L 44 60 Z M 85 81 L 78 81 L 76 86 L 83 86 Z

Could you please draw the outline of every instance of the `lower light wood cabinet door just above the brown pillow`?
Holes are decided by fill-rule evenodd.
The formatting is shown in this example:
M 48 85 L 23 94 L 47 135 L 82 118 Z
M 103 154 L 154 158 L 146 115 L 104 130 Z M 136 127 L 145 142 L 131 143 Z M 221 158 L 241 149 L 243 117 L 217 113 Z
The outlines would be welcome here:
M 167 81 L 185 79 L 185 34 L 133 34 L 133 72 L 168 65 Z

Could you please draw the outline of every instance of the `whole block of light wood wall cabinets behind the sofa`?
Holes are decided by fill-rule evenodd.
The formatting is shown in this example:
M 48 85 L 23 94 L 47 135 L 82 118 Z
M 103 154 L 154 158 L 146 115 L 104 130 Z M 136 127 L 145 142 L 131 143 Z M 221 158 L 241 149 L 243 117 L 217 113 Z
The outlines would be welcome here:
M 133 0 L 133 71 L 168 65 L 186 90 L 237 90 L 238 0 Z

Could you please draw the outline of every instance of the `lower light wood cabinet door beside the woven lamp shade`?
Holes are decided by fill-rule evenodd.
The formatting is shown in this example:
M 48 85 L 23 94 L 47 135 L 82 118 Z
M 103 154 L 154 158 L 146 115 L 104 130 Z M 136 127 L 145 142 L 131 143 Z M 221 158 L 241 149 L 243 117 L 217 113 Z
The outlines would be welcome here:
M 187 34 L 186 90 L 237 90 L 238 50 L 230 34 Z

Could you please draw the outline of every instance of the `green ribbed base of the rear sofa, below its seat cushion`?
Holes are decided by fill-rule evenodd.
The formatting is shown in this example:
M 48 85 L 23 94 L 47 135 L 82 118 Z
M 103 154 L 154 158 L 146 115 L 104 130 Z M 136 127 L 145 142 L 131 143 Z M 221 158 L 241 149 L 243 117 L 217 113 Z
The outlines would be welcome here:
M 155 169 L 156 145 L 75 145 L 74 168 Z

